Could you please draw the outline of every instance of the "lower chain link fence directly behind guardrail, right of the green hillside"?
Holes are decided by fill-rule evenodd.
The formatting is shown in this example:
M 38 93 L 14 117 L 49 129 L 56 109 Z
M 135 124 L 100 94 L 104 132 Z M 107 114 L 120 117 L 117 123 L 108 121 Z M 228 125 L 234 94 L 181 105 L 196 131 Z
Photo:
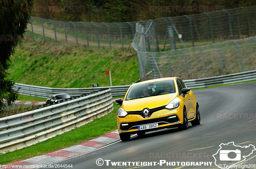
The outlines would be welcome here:
M 137 50 L 142 80 L 199 79 L 256 69 L 256 36 L 165 52 Z M 133 44 L 133 47 L 136 45 Z

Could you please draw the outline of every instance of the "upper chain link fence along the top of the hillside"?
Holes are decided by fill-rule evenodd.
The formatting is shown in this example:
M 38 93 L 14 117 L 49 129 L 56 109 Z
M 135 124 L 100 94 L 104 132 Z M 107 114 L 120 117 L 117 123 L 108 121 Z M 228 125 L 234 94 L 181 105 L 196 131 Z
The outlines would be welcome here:
M 150 52 L 168 51 L 170 50 L 169 26 L 174 28 L 176 47 L 186 48 L 255 35 L 255 15 L 256 6 L 124 23 L 61 22 L 31 17 L 27 31 L 34 39 L 52 38 L 56 42 L 63 41 L 99 48 L 128 47 L 134 38 L 136 23 L 139 23 L 149 28 L 144 30 L 147 34 L 153 32 L 145 39 L 148 39 L 149 44 L 146 48 L 152 46 Z

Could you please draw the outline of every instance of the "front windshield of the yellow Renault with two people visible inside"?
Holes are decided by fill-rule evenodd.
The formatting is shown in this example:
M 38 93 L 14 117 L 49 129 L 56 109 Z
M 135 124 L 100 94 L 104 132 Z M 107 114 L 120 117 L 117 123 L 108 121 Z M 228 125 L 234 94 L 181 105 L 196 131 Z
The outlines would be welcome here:
M 125 100 L 175 93 L 174 81 L 156 81 L 132 86 Z

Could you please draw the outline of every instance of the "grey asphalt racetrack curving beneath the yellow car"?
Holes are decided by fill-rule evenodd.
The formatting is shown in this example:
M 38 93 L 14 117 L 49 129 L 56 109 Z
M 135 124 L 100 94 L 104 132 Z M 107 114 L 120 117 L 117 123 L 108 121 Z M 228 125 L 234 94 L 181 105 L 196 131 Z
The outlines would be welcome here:
M 241 147 L 252 144 L 241 151 L 240 159 L 252 152 L 246 157 L 251 159 L 242 165 L 256 168 L 256 151 L 252 151 L 253 146 L 256 147 L 255 88 L 256 82 L 251 82 L 195 90 L 201 114 L 200 125 L 189 123 L 188 130 L 163 129 L 147 132 L 143 137 L 132 135 L 128 142 L 118 141 L 55 164 L 72 164 L 73 168 L 219 168 L 214 164 L 213 155 L 221 143 L 234 142 Z M 225 150 L 237 148 L 231 144 L 223 146 Z M 222 168 L 234 164 L 232 159 L 237 157 L 234 153 L 222 154 L 225 160 L 220 160 L 217 154 L 217 164 Z

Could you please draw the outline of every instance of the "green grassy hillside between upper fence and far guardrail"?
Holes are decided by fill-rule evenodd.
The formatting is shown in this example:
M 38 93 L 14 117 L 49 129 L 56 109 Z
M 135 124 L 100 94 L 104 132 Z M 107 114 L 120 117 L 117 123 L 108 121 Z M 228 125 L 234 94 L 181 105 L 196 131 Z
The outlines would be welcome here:
M 86 48 L 55 41 L 26 40 L 11 57 L 9 78 L 18 83 L 55 87 L 84 88 L 127 85 L 139 79 L 137 54 L 132 49 Z

